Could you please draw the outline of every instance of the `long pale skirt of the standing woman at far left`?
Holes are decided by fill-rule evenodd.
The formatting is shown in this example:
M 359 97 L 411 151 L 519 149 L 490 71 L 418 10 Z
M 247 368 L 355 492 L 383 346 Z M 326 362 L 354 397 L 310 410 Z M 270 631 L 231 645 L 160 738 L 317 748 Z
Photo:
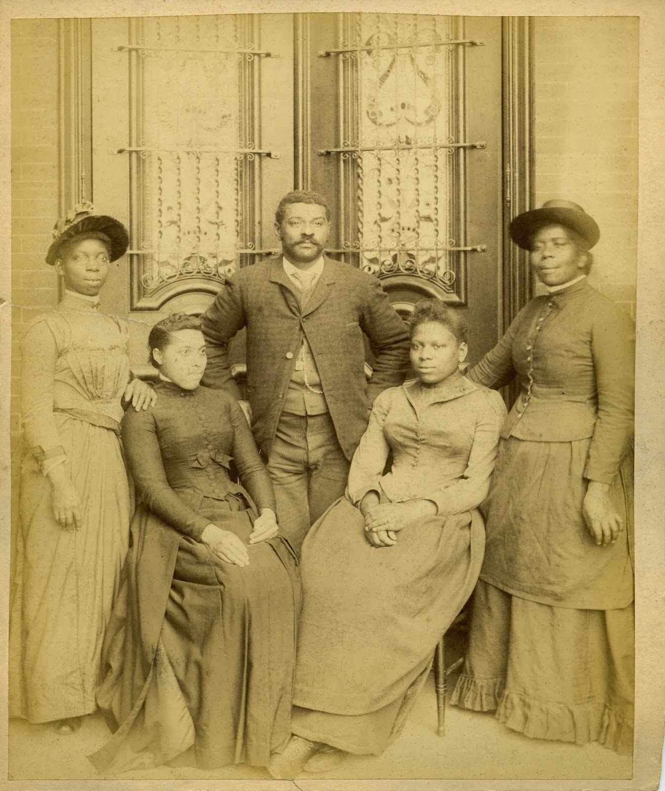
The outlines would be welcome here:
M 127 553 L 130 495 L 117 434 L 55 414 L 81 496 L 81 528 L 53 517 L 51 483 L 21 467 L 21 528 L 9 638 L 9 716 L 31 722 L 96 710 L 104 631 Z

